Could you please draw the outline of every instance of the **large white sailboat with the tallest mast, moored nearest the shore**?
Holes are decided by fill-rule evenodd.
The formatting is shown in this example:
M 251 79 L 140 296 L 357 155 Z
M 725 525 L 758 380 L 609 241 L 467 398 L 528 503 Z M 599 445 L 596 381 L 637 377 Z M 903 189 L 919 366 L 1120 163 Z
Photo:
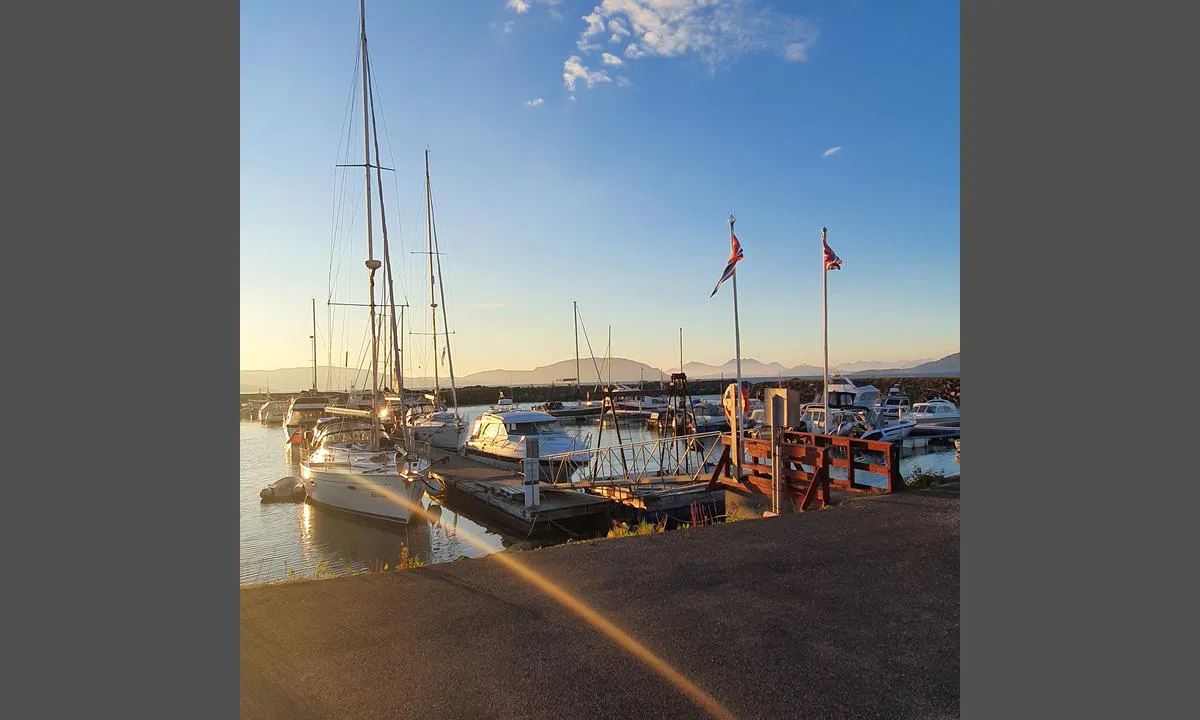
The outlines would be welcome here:
M 379 332 L 376 324 L 374 277 L 383 263 L 374 258 L 371 169 L 379 182 L 380 229 L 386 257 L 388 222 L 383 206 L 379 139 L 374 136 L 374 163 L 371 162 L 371 131 L 374 125 L 374 104 L 371 95 L 371 64 L 367 55 L 365 0 L 359 0 L 359 49 L 362 76 L 362 168 L 366 175 L 367 282 L 371 308 L 371 408 L 330 407 L 326 413 L 337 415 L 334 422 L 322 422 L 314 431 L 314 448 L 300 463 L 300 476 L 308 500 L 355 515 L 408 522 L 420 508 L 425 486 L 431 482 L 428 460 L 413 452 L 410 439 L 400 442 L 384 432 L 379 413 L 384 407 L 379 392 Z

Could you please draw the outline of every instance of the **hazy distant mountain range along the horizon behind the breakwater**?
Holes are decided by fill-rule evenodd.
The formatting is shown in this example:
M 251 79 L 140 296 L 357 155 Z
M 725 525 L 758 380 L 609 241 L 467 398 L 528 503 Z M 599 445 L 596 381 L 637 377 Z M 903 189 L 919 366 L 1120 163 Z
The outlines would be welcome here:
M 704 362 L 688 362 L 684 372 L 692 379 L 733 378 L 737 376 L 734 360 L 724 365 L 708 365 Z M 890 365 L 890 367 L 887 367 Z M 601 377 L 596 376 L 599 366 Z M 845 362 L 839 368 L 851 376 L 901 376 L 901 377 L 932 377 L 932 376 L 958 376 L 959 353 L 947 355 L 938 360 L 911 362 L 878 362 L 856 361 Z M 606 383 L 608 378 L 616 383 L 636 383 L 638 380 L 658 382 L 667 379 L 676 368 L 660 370 L 644 362 L 629 360 L 626 358 L 612 359 L 612 373 L 610 376 L 608 361 L 580 359 L 580 383 L 594 385 Z M 833 370 L 833 368 L 830 368 Z M 574 383 L 575 359 L 563 360 L 552 365 L 544 365 L 533 370 L 485 370 L 473 372 L 468 376 L 455 378 L 458 386 L 487 385 L 487 386 L 520 386 L 520 385 L 553 385 Z M 743 379 L 770 379 L 770 378 L 818 378 L 821 368 L 814 365 L 797 365 L 786 367 L 779 362 L 761 362 L 752 358 L 742 359 Z M 439 377 L 443 388 L 450 386 L 449 377 Z M 382 385 L 388 380 L 380 376 Z M 322 388 L 364 388 L 371 385 L 371 376 L 367 372 L 347 367 L 317 368 L 317 384 Z M 432 377 L 404 378 L 408 388 L 432 388 Z M 312 367 L 286 367 L 281 370 L 244 370 L 240 377 L 240 392 L 259 392 L 270 389 L 274 392 L 292 392 L 312 386 Z

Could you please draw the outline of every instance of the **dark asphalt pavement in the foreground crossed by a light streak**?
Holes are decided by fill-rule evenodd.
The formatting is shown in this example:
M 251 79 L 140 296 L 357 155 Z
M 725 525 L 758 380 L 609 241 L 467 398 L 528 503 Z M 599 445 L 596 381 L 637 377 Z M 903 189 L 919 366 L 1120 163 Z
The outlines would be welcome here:
M 959 715 L 958 485 L 511 557 L 737 718 Z M 241 590 L 241 716 L 702 718 L 497 558 Z

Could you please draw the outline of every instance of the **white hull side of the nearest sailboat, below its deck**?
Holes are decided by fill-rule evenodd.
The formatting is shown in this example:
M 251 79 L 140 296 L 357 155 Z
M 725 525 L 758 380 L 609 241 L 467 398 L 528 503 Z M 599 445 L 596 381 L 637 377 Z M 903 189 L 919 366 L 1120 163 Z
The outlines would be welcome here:
M 425 484 L 409 481 L 394 472 L 364 473 L 347 467 L 316 469 L 300 467 L 304 488 L 313 503 L 355 515 L 408 522 L 413 506 L 420 505 Z

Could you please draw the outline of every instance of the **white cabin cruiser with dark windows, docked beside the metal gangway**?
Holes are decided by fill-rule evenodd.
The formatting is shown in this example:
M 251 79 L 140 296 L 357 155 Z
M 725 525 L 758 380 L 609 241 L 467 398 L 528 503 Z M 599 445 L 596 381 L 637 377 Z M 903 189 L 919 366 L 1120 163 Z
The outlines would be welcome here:
M 536 438 L 540 457 L 580 452 L 588 446 L 586 440 L 568 434 L 550 413 L 494 408 L 475 420 L 463 451 L 467 457 L 485 464 L 521 473 L 524 470 L 527 438 Z M 582 462 L 554 462 L 552 467 L 551 462 L 542 460 L 539 464 L 541 479 L 548 481 L 570 478 Z

